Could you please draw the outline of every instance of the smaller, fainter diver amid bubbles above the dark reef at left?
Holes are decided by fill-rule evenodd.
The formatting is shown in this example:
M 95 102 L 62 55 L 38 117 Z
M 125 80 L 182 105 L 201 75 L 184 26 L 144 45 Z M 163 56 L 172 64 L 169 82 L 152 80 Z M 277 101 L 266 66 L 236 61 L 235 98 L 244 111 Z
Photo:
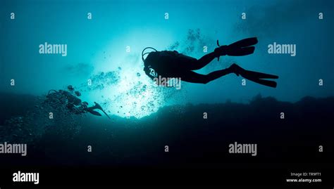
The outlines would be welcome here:
M 68 86 L 68 90 L 70 92 L 63 91 L 63 90 L 58 90 L 58 91 L 50 90 L 47 95 L 47 99 L 48 100 L 66 99 L 66 102 L 63 102 L 63 103 L 67 103 L 66 107 L 68 107 L 68 110 L 70 110 L 71 112 L 74 112 L 77 115 L 85 113 L 85 112 L 89 112 L 92 115 L 101 116 L 99 112 L 95 111 L 96 109 L 104 112 L 101 105 L 99 105 L 96 102 L 94 102 L 95 105 L 92 107 L 88 107 L 87 102 L 81 102 L 80 98 L 77 97 L 77 96 L 81 96 L 79 91 L 74 92 L 76 96 L 73 95 L 73 91 L 74 91 L 73 86 Z M 110 119 L 109 115 L 107 115 L 106 112 L 104 112 L 104 114 Z

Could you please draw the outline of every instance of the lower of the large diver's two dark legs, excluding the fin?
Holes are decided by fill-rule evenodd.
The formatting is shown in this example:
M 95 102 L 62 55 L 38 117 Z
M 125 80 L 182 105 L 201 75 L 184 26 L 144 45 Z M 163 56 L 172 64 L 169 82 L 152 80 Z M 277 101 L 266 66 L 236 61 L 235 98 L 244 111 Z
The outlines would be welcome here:
M 197 84 L 207 84 L 214 79 L 218 79 L 219 77 L 223 77 L 225 74 L 233 73 L 232 70 L 229 68 L 224 70 L 218 70 L 215 72 L 211 72 L 209 74 L 198 74 L 196 72 L 192 71 L 185 71 L 183 72 L 181 78 L 181 81 L 184 82 L 190 82 L 190 83 L 197 83 Z

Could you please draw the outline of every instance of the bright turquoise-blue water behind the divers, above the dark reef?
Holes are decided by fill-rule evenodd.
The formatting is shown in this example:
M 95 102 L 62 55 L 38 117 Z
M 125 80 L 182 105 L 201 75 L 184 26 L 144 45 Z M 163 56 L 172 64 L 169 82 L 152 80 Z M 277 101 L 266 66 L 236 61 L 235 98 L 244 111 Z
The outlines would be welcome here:
M 137 118 L 165 105 L 248 103 L 259 93 L 290 102 L 304 96 L 333 96 L 333 5 L 255 0 L 1 1 L 0 91 L 41 96 L 71 84 L 82 100 L 101 103 L 110 115 Z M 10 19 L 12 12 L 15 20 Z M 243 12 L 246 20 L 241 19 Z M 319 12 L 323 20 L 318 19 Z M 87 13 L 92 13 L 92 20 Z M 140 53 L 147 46 L 161 51 L 179 44 L 173 49 L 201 58 L 203 45 L 211 52 L 217 39 L 230 44 L 246 37 L 259 39 L 254 54 L 221 57 L 199 72 L 238 63 L 247 70 L 279 75 L 276 89 L 252 82 L 242 86 L 242 78 L 234 74 L 205 85 L 183 82 L 180 90 L 163 89 L 142 71 Z M 39 54 L 44 42 L 67 44 L 67 56 Z M 297 56 L 268 54 L 267 46 L 273 42 L 296 44 Z M 323 79 L 323 86 L 318 86 L 318 79 Z

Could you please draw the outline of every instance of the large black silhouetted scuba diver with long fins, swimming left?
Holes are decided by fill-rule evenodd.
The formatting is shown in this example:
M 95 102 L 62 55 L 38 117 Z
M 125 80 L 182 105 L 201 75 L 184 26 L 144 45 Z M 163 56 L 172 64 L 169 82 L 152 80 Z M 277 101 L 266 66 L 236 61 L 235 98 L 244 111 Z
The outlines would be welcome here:
M 218 48 L 215 48 L 214 52 L 208 53 L 198 60 L 178 53 L 178 51 L 156 51 L 155 48 L 147 47 L 142 51 L 144 72 L 151 79 L 159 76 L 165 78 L 181 78 L 184 82 L 199 84 L 207 84 L 219 77 L 223 77 L 225 74 L 235 73 L 237 76 L 240 75 L 252 82 L 276 88 L 276 82 L 266 79 L 278 79 L 278 76 L 245 70 L 234 63 L 226 69 L 211 72 L 206 75 L 192 71 L 201 69 L 214 60 L 214 58 L 218 58 L 219 60 L 220 56 L 247 56 L 252 54 L 255 50 L 255 47 L 252 45 L 257 44 L 257 42 L 256 37 L 251 37 L 230 45 L 220 46 L 217 40 Z M 149 48 L 154 51 L 144 53 L 144 51 Z M 144 58 L 145 55 L 147 55 L 147 58 Z

